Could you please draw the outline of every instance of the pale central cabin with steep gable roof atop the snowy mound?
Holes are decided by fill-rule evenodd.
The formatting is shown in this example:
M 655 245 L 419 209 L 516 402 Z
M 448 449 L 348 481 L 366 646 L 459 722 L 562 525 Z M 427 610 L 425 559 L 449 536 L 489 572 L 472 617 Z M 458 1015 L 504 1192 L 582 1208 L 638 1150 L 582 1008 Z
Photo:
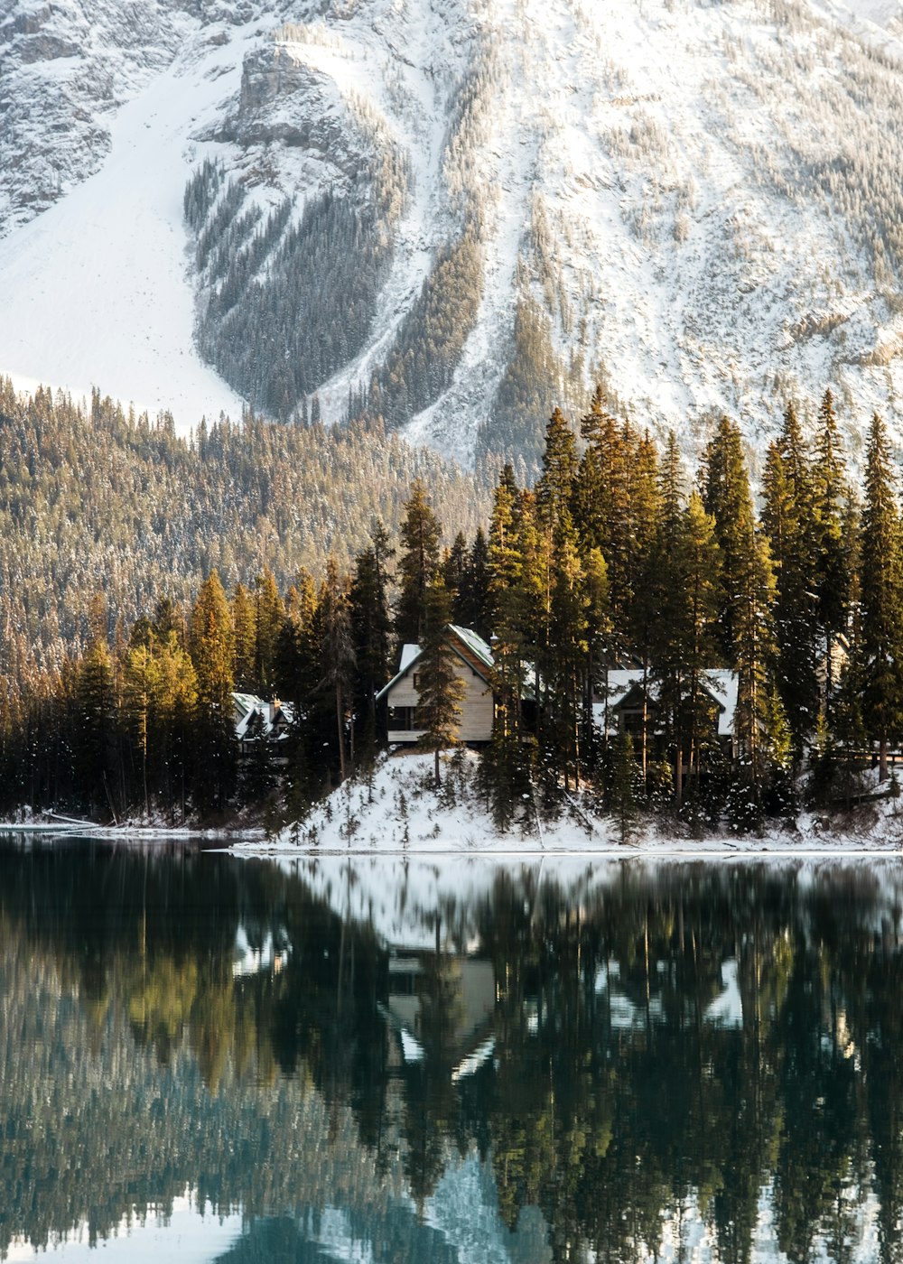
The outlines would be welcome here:
M 488 742 L 492 737 L 493 700 L 489 684 L 492 650 L 469 628 L 449 623 L 446 640 L 455 655 L 455 671 L 464 684 L 458 737 L 462 742 Z M 422 650 L 406 645 L 401 651 L 398 674 L 377 694 L 377 703 L 388 707 L 388 741 L 416 742 L 424 736 L 420 713 L 419 664 Z

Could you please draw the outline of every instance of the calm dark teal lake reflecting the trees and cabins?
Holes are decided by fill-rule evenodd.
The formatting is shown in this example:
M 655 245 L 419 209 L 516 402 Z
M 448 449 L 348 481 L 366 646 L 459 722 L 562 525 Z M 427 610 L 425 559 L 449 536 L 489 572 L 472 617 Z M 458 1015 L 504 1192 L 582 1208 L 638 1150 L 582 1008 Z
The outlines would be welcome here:
M 902 908 L 0 838 L 0 1256 L 900 1260 Z

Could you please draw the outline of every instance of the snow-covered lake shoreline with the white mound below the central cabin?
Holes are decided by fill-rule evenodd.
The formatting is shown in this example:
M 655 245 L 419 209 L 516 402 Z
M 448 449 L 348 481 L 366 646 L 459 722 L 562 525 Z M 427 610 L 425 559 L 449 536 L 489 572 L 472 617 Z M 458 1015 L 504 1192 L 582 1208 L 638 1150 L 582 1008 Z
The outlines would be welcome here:
M 384 757 L 369 776 L 353 777 L 315 804 L 306 820 L 267 836 L 261 827 L 94 825 L 78 820 L 0 822 L 0 834 L 91 838 L 126 843 L 205 843 L 207 849 L 259 857 L 374 857 L 401 860 L 543 857 L 583 860 L 842 860 L 903 854 L 899 800 L 883 799 L 850 815 L 803 811 L 796 828 L 761 834 L 712 832 L 691 837 L 640 815 L 630 838 L 610 817 L 572 799 L 556 820 L 530 817 L 500 833 L 473 784 L 476 756 L 445 760 L 440 799 L 431 787 L 433 756 Z

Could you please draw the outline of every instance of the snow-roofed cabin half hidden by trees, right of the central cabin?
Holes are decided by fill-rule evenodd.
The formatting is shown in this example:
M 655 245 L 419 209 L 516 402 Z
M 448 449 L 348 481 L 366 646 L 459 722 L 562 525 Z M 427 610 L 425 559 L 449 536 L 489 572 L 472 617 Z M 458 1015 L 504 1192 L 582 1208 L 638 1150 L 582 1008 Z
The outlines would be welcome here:
M 734 717 L 737 709 L 737 674 L 716 669 L 706 671 L 701 679 L 704 696 L 710 704 L 711 737 L 717 738 L 728 757 L 734 757 Z M 663 733 L 659 688 L 654 680 L 646 683 L 646 739 L 655 744 Z M 642 671 L 636 667 L 617 669 L 608 672 L 608 696 L 593 704 L 593 714 L 598 728 L 608 736 L 627 732 L 634 744 L 642 738 L 644 688 Z

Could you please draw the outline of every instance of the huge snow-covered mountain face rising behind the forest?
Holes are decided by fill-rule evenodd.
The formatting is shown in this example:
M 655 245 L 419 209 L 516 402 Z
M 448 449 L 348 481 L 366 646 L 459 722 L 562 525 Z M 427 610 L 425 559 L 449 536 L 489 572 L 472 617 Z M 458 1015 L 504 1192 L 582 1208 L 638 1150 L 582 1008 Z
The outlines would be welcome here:
M 898 0 L 8 0 L 0 372 L 688 453 L 903 388 Z M 187 190 L 187 193 L 186 193 Z

